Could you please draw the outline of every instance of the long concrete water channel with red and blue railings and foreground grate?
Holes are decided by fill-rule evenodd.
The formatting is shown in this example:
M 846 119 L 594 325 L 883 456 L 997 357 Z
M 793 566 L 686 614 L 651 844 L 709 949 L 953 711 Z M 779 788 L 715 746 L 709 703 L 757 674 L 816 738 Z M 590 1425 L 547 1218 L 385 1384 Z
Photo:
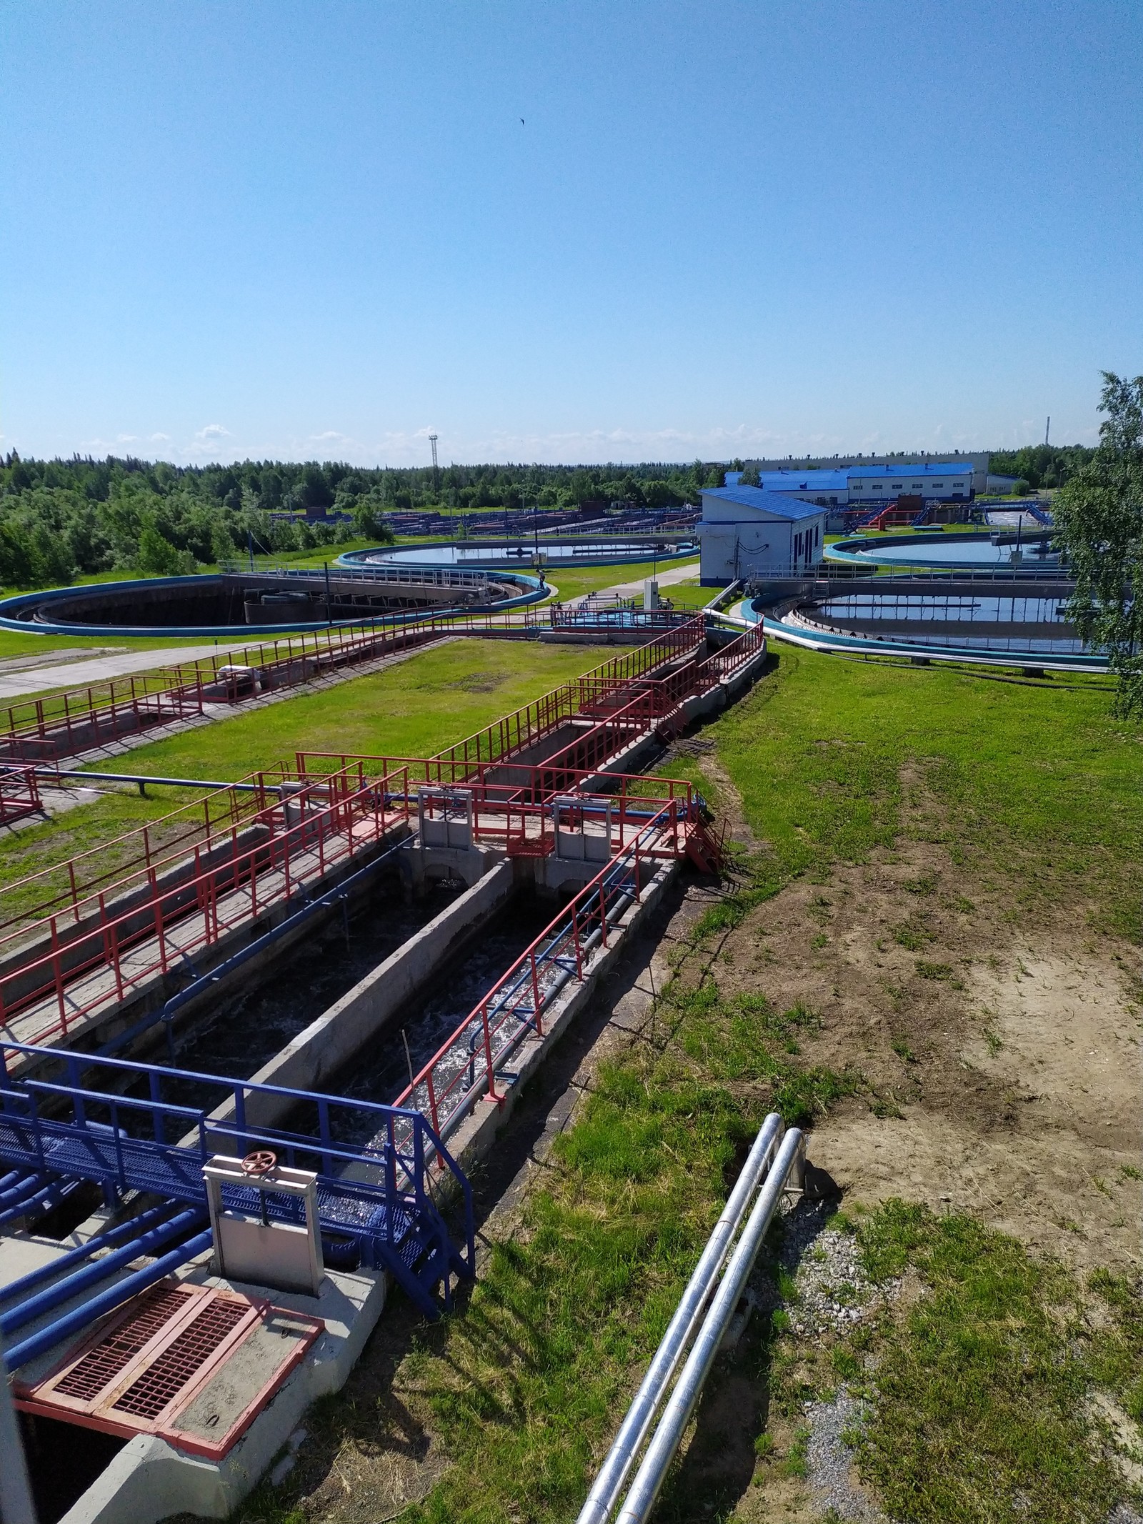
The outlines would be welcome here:
M 300 757 L 194 870 L 24 928 L 0 1330 L 41 1524 L 226 1516 L 390 1289 L 453 1305 L 466 1170 L 683 861 L 718 864 L 640 770 L 764 660 L 695 620 L 436 759 Z

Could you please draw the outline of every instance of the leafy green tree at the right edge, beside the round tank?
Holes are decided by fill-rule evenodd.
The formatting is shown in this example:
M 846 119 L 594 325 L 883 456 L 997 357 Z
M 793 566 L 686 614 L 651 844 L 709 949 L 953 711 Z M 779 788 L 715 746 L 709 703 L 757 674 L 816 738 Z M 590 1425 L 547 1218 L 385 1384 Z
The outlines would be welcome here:
M 1106 651 L 1117 709 L 1143 710 L 1143 376 L 1103 372 L 1099 445 L 1056 494 L 1056 543 L 1076 579 L 1068 617 Z

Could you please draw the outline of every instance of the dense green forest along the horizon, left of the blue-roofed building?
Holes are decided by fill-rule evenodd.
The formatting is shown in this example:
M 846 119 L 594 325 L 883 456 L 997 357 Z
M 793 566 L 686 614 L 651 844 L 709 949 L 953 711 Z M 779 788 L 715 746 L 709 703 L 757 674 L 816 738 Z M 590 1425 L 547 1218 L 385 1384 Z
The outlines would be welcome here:
M 343 462 L 245 460 L 175 466 L 108 456 L 0 457 L 0 584 L 47 587 L 79 573 L 177 576 L 227 565 L 248 546 L 280 555 L 354 538 L 392 539 L 408 509 L 572 507 L 587 500 L 649 507 L 696 501 L 722 468 L 447 466 L 366 469 Z M 306 521 L 326 509 L 332 521 Z M 276 515 L 297 515 L 283 518 Z

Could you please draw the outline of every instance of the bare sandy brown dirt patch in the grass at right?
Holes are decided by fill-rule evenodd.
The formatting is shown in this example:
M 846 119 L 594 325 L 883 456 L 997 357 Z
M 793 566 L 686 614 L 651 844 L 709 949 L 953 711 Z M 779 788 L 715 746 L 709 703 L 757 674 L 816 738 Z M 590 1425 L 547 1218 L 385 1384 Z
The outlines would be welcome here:
M 863 1093 L 814 1129 L 856 1201 L 971 1212 L 1076 1268 L 1140 1262 L 1138 952 L 1082 917 L 1012 928 L 933 843 L 796 882 L 732 931 L 724 994 L 802 1001 L 808 1062 Z

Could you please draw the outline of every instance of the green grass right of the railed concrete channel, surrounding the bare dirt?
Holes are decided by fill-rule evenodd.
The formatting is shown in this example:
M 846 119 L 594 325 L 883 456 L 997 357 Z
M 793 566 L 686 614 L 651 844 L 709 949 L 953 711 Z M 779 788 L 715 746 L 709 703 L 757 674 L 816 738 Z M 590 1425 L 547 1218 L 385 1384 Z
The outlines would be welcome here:
M 338 1474 L 338 1457 L 352 1469 L 378 1448 L 401 1451 L 418 1422 L 450 1465 L 399 1513 L 408 1524 L 575 1518 L 719 1210 L 736 1149 L 773 1106 L 805 1123 L 863 1085 L 856 1070 L 802 1058 L 814 1012 L 724 997 L 716 942 L 791 879 L 892 852 L 907 768 L 942 800 L 940 840 L 1009 892 L 1013 917 L 1082 905 L 1096 927 L 1140 940 L 1140 739 L 1109 718 L 1106 692 L 783 651 L 777 672 L 704 739 L 715 741 L 764 850 L 678 949 L 651 1030 L 602 1068 L 518 1227 L 492 1244 L 468 1305 L 419 1330 L 396 1370 L 395 1402 L 358 1398 L 351 1385 L 322 1404 L 294 1477 L 261 1487 L 242 1519 L 319 1516 L 306 1497 Z M 718 797 L 701 760 L 692 771 Z M 789 1344 L 780 1314 L 754 1320 L 724 1378 L 738 1370 L 770 1387 L 756 1478 L 767 1468 L 805 1474 L 803 1448 L 774 1451 L 767 1404 L 771 1422 L 797 1420 L 802 1401 L 841 1378 L 860 1390 L 863 1356 L 875 1349 L 860 1463 L 893 1516 L 1105 1518 L 1123 1486 L 1088 1396 L 1102 1385 L 1143 1419 L 1143 1335 L 1129 1288 L 1111 1276 L 1081 1286 L 966 1218 L 890 1204 L 858 1231 L 875 1277 L 911 1265 L 930 1294 L 896 1321 L 821 1340 L 812 1358 Z M 707 1442 L 718 1451 L 718 1434 Z M 337 1504 L 328 1512 L 331 1497 L 320 1516 L 341 1518 Z M 719 1495 L 684 1465 L 657 1518 L 700 1513 L 753 1516 L 741 1487 Z

